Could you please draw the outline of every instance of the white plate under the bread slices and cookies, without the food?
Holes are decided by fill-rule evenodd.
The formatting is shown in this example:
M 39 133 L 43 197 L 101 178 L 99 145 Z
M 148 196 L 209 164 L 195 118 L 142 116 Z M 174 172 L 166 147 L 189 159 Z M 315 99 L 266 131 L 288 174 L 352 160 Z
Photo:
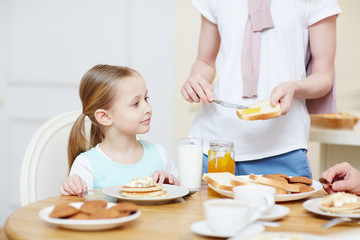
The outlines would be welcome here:
M 244 176 L 239 176 L 245 180 L 249 180 L 249 176 L 248 175 L 244 175 Z M 251 180 L 250 180 L 251 181 Z M 275 201 L 276 202 L 287 202 L 287 201 L 294 201 L 294 200 L 299 200 L 299 199 L 304 199 L 307 198 L 311 195 L 313 195 L 314 193 L 316 193 L 317 191 L 322 189 L 322 184 L 319 183 L 318 181 L 312 180 L 313 183 L 311 184 L 311 186 L 315 189 L 314 191 L 311 192 L 306 192 L 306 193 L 294 193 L 294 194 L 276 194 L 275 195 Z M 234 197 L 233 192 L 232 191 L 226 191 L 226 190 L 222 190 L 222 189 L 218 189 L 215 188 L 213 186 L 211 186 L 210 184 L 208 184 L 209 187 L 211 189 L 213 189 L 215 192 L 226 196 L 226 197 Z

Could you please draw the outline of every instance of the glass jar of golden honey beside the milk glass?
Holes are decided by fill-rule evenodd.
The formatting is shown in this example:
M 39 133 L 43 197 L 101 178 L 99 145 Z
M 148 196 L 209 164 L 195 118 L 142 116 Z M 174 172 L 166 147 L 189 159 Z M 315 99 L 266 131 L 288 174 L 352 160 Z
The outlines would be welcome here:
M 208 172 L 235 174 L 235 151 L 231 141 L 212 141 L 208 152 Z

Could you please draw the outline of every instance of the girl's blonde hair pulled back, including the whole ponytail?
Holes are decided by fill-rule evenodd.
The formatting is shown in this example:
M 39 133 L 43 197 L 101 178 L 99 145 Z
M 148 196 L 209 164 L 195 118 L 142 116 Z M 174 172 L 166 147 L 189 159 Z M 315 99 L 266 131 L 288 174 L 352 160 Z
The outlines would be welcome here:
M 75 158 L 82 152 L 95 147 L 104 139 L 101 125 L 95 118 L 97 109 L 109 109 L 115 95 L 115 85 L 125 77 L 139 75 L 128 67 L 96 65 L 81 79 L 79 95 L 82 103 L 82 113 L 76 119 L 68 142 L 69 169 Z M 85 117 L 91 120 L 90 143 L 85 134 Z

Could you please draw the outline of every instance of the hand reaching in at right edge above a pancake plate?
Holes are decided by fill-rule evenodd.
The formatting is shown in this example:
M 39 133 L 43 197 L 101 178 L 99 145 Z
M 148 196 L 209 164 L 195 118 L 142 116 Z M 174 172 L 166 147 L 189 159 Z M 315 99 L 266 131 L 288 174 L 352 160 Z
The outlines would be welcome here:
M 328 193 L 347 191 L 360 195 L 360 173 L 347 162 L 334 165 L 322 177 L 332 183 L 332 187 L 323 185 Z

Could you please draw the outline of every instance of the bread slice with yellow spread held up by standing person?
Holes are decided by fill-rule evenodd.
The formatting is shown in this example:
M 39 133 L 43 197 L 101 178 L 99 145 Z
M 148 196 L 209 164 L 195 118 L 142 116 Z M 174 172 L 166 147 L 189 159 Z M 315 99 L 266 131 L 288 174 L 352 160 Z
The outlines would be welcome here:
M 281 107 L 279 103 L 277 103 L 275 107 L 272 107 L 270 99 L 266 99 L 249 105 L 248 109 L 236 109 L 236 114 L 243 120 L 265 120 L 280 116 Z

